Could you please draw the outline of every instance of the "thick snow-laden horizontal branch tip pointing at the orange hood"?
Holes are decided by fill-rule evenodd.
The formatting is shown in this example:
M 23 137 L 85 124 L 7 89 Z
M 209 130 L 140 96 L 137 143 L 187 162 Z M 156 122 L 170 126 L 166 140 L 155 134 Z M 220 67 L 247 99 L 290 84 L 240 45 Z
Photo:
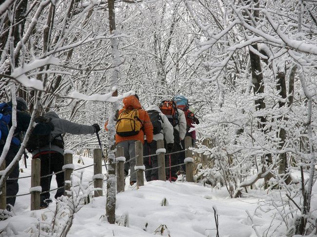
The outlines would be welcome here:
M 71 99 L 78 99 L 78 100 L 86 100 L 86 101 L 103 101 L 103 102 L 116 102 L 120 99 L 123 99 L 124 97 L 127 97 L 129 95 L 135 94 L 134 91 L 128 91 L 123 94 L 120 94 L 118 96 L 112 96 L 113 92 L 117 90 L 116 87 L 112 88 L 112 91 L 106 94 L 92 94 L 92 95 L 85 95 L 82 93 L 79 93 L 77 91 L 73 91 L 69 94 L 69 97 Z

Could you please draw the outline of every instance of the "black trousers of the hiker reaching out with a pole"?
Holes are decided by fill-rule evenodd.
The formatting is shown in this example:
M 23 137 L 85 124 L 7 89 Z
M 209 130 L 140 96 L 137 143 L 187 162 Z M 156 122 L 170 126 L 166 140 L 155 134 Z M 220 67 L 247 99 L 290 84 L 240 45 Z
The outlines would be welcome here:
M 40 176 L 45 176 L 53 174 L 62 170 L 64 165 L 64 156 L 58 152 L 43 154 L 39 156 L 40 165 Z M 42 187 L 42 192 L 49 191 L 51 187 L 52 176 L 44 177 L 40 179 L 40 185 Z M 58 187 L 64 186 L 64 173 L 61 172 L 56 174 L 56 182 Z M 55 199 L 59 198 L 64 194 L 64 188 L 59 188 L 56 191 Z M 44 200 L 50 198 L 50 193 L 44 193 L 40 195 L 40 205 L 45 206 Z

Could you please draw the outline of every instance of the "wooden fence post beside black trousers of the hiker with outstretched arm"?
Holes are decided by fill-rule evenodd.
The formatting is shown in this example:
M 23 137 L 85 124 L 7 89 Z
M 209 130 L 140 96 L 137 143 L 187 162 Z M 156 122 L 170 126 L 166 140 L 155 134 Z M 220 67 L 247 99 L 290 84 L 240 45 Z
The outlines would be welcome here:
M 40 210 L 40 159 L 31 161 L 31 211 Z M 38 188 L 39 187 L 39 188 Z

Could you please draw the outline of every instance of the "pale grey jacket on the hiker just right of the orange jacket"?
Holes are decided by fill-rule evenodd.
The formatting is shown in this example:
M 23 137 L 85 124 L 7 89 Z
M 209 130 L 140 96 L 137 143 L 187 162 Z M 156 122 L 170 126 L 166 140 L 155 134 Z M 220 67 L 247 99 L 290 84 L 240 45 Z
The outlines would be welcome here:
M 168 121 L 168 118 L 161 112 L 161 110 L 156 105 L 151 105 L 146 111 L 156 110 L 159 112 L 159 116 L 162 121 L 162 130 L 158 134 L 153 134 L 153 140 L 163 140 L 165 138 L 166 143 L 174 143 L 173 125 Z

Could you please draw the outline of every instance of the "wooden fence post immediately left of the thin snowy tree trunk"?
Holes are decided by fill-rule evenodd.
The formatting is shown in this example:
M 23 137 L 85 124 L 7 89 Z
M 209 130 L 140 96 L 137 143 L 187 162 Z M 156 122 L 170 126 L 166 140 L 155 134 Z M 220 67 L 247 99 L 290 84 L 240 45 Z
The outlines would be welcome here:
M 101 149 L 94 149 L 94 187 L 100 188 L 101 190 L 95 190 L 94 196 L 101 197 L 102 196 L 102 184 L 103 184 L 103 174 L 102 174 L 102 155 Z

